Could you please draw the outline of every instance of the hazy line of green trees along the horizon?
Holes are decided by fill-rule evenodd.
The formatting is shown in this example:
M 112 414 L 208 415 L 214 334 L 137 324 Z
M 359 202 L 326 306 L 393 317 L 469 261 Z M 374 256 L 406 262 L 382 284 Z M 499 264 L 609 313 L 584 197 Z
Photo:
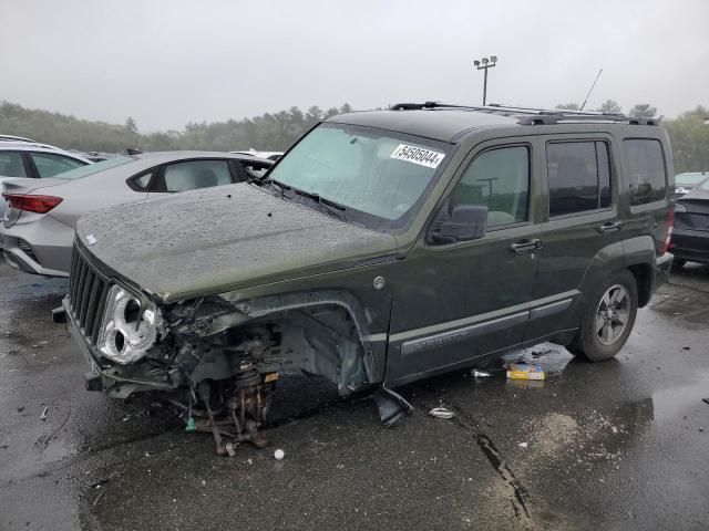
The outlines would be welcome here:
M 578 110 L 567 103 L 556 108 Z M 352 107 L 322 110 L 317 105 L 301 111 L 290 107 L 278 113 L 265 113 L 243 119 L 214 123 L 189 123 L 184 131 L 141 134 L 133 117 L 125 123 L 91 122 L 49 111 L 31 110 L 0 102 L 0 134 L 19 135 L 83 152 L 119 153 L 127 147 L 143 150 L 207 149 L 237 150 L 253 147 L 260 150 L 285 150 L 315 124 L 336 114 L 349 113 Z M 605 101 L 596 111 L 621 113 L 613 100 Z M 630 107 L 628 115 L 653 117 L 656 107 L 643 103 Z M 697 106 L 674 119 L 662 119 L 672 143 L 675 169 L 680 171 L 709 170 L 709 110 Z

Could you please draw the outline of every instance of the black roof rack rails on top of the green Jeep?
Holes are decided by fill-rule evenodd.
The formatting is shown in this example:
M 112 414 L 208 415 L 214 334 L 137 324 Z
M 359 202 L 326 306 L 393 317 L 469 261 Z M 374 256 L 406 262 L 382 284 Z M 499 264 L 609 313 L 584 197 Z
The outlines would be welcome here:
M 620 113 L 600 113 L 596 111 L 573 111 L 567 108 L 535 108 L 516 107 L 512 105 L 455 105 L 441 102 L 425 103 L 397 103 L 390 107 L 392 111 L 421 111 L 435 108 L 460 108 L 477 111 L 482 113 L 499 114 L 516 117 L 520 125 L 549 125 L 563 122 L 605 122 L 624 123 L 630 125 L 659 125 L 659 118 L 636 118 Z

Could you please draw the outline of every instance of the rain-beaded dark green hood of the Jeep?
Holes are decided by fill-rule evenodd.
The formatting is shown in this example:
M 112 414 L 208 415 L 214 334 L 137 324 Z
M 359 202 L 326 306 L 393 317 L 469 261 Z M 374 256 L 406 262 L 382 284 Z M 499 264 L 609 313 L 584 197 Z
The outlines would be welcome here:
M 397 247 L 246 184 L 90 214 L 76 238 L 109 274 L 164 302 L 347 269 Z

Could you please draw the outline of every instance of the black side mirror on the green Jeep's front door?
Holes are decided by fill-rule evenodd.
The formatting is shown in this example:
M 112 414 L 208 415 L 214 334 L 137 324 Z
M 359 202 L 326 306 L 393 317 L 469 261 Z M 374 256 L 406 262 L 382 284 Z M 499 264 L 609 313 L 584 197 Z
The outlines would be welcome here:
M 428 239 L 432 243 L 476 240 L 485 236 L 486 229 L 487 207 L 445 204 L 435 216 Z

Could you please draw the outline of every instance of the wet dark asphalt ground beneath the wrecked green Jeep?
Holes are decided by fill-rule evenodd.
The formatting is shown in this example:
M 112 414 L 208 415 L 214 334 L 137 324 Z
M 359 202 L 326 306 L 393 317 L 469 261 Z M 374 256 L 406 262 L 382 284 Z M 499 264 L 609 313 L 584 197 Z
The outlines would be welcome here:
M 391 428 L 296 378 L 270 446 L 233 458 L 152 399 L 84 391 L 50 316 L 65 290 L 0 264 L 0 530 L 709 528 L 707 267 L 672 274 L 616 360 L 540 345 L 515 356 L 544 385 L 459 371 L 401 388 L 415 414 Z

